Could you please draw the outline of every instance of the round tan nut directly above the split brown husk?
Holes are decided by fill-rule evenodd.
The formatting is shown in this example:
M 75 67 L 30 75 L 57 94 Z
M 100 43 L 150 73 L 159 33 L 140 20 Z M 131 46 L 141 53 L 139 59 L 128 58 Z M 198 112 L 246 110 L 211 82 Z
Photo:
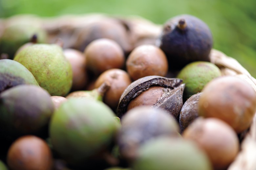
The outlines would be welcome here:
M 133 80 L 151 75 L 165 76 L 168 71 L 168 61 L 159 47 L 141 45 L 128 56 L 126 69 Z

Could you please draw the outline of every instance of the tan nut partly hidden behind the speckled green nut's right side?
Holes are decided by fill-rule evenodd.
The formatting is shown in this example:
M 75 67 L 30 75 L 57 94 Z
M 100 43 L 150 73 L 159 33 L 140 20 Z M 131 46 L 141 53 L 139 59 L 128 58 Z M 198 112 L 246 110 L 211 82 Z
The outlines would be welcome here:
M 72 67 L 72 90 L 82 90 L 88 83 L 85 56 L 82 52 L 72 48 L 64 49 L 63 52 Z

